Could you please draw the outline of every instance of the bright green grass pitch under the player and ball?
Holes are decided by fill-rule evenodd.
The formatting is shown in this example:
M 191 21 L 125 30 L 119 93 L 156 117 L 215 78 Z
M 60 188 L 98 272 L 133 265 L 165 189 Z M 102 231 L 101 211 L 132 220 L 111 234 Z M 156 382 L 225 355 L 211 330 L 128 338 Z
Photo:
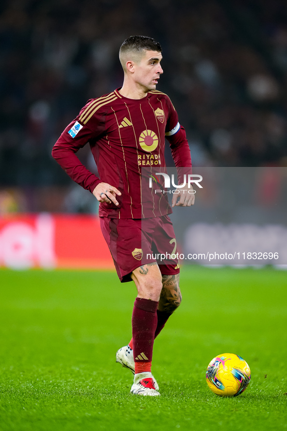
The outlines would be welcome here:
M 287 274 L 184 267 L 183 303 L 154 344 L 161 397 L 129 394 L 115 362 L 131 335 L 133 283 L 114 272 L 0 271 L 0 430 L 287 429 Z M 220 353 L 251 367 L 237 398 L 205 370 Z

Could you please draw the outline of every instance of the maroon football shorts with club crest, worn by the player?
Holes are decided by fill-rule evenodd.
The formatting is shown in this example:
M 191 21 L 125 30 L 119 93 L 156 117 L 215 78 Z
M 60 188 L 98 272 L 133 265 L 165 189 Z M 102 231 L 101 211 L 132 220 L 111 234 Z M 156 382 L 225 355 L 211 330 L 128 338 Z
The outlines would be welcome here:
M 169 216 L 100 217 L 100 223 L 121 282 L 132 281 L 132 271 L 151 262 L 158 263 L 163 275 L 179 273 L 175 234 Z

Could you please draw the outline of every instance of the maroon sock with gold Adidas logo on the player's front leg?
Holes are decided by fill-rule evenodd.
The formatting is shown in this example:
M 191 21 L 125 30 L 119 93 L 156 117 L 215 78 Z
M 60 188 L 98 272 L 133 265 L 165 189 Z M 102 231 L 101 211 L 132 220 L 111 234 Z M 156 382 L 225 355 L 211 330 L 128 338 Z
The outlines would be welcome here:
M 140 372 L 141 367 L 138 365 L 152 361 L 154 332 L 157 325 L 157 305 L 158 301 L 135 298 L 132 315 L 135 373 Z

